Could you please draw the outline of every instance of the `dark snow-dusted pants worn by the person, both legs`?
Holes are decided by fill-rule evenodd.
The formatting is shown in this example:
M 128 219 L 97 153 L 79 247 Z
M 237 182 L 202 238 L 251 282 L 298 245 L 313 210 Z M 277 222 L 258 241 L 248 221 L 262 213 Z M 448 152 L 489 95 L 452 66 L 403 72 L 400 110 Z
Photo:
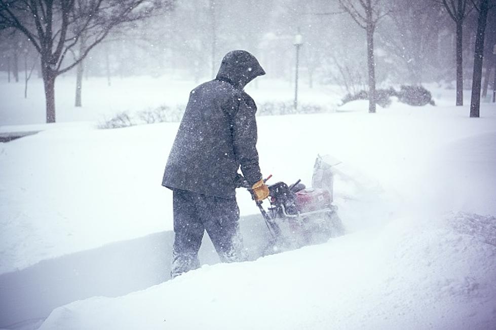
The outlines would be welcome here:
M 235 198 L 225 199 L 174 189 L 173 211 L 172 278 L 200 267 L 198 250 L 205 230 L 220 261 L 246 260 Z

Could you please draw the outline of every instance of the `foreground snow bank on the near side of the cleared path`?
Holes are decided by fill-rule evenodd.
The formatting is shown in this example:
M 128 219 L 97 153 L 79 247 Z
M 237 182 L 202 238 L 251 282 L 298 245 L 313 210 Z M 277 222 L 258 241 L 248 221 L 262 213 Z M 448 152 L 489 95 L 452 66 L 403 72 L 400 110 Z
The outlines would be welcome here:
M 496 218 L 406 218 L 380 231 L 204 266 L 119 298 L 57 308 L 40 329 L 488 329 Z

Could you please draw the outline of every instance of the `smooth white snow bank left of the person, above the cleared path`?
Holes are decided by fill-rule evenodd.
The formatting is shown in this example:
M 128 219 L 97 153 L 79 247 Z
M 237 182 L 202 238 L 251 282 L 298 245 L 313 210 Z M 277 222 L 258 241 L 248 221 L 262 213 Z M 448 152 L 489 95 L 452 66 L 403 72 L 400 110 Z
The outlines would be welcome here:
M 0 273 L 164 230 L 176 130 L 82 124 L 0 143 Z

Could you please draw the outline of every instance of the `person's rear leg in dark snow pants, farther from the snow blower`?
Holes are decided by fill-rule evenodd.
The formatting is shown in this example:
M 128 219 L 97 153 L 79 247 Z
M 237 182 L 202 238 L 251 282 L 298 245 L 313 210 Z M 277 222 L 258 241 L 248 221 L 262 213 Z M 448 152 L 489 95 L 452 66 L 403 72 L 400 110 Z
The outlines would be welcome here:
M 198 250 L 205 231 L 195 206 L 198 194 L 173 190 L 174 246 L 172 248 L 171 277 L 200 267 Z

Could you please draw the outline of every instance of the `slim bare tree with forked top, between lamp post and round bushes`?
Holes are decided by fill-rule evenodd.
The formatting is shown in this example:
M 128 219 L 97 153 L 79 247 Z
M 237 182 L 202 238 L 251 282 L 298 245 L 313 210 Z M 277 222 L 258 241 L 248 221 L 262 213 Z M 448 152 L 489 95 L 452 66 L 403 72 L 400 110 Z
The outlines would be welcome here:
M 339 5 L 367 32 L 369 113 L 375 113 L 374 32 L 377 22 L 387 13 L 380 0 L 339 0 Z

